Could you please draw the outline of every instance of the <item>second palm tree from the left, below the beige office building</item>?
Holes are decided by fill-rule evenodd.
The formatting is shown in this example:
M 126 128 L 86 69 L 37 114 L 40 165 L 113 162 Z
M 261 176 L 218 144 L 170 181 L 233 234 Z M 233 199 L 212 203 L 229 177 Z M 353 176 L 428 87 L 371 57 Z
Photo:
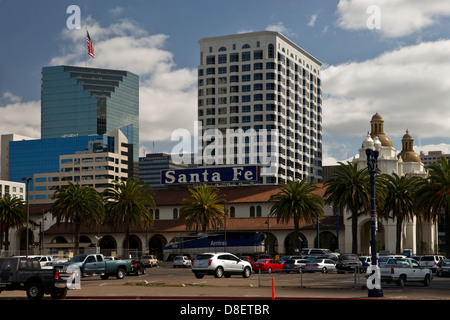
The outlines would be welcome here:
M 80 227 L 83 224 L 95 224 L 101 221 L 104 207 L 101 195 L 91 186 L 73 184 L 56 190 L 52 199 L 52 214 L 56 223 L 64 221 L 75 226 L 75 253 L 80 249 Z

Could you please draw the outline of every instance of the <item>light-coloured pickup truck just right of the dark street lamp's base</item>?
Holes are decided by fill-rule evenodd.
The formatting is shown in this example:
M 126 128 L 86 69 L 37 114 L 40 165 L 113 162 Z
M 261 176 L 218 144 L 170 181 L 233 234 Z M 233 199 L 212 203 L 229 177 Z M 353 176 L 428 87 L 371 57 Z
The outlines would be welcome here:
M 380 266 L 381 282 L 397 282 L 404 286 L 406 282 L 422 282 L 428 287 L 431 284 L 432 272 L 423 268 L 411 258 L 391 258 Z

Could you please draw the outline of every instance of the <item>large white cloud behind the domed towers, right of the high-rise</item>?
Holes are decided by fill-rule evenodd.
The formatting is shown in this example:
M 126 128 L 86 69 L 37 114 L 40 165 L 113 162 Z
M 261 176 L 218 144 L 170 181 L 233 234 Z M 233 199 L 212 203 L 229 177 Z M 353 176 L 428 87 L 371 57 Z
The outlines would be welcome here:
M 420 138 L 450 131 L 450 40 L 424 42 L 375 59 L 328 66 L 322 71 L 324 131 L 361 135 L 379 113 L 385 132 Z

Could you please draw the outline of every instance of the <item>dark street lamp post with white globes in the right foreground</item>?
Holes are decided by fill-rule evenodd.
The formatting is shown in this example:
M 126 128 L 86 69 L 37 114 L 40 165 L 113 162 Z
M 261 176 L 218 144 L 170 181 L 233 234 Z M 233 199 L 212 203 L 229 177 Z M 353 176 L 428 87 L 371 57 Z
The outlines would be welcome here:
M 370 283 L 368 279 L 368 294 L 369 297 L 382 297 L 383 291 L 380 286 L 380 275 L 377 265 L 377 238 L 376 238 L 376 199 L 375 199 L 375 174 L 378 169 L 378 155 L 381 150 L 381 142 L 378 137 L 372 139 L 369 134 L 367 134 L 366 139 L 363 142 L 363 147 L 366 149 L 367 156 L 367 168 L 370 174 L 370 227 L 371 227 L 371 240 L 370 240 L 370 250 L 372 253 L 372 275 L 370 275 L 370 281 L 374 279 L 375 283 Z

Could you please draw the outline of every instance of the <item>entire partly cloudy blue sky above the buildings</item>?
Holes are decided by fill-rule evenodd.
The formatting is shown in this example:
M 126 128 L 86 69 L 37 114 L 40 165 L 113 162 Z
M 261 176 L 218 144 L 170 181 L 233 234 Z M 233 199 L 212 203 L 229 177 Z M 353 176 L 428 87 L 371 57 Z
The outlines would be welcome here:
M 140 154 L 170 152 L 197 120 L 198 41 L 272 30 L 323 63 L 324 165 L 358 154 L 375 113 L 397 152 L 409 130 L 450 153 L 448 0 L 0 0 L 0 29 L 0 134 L 40 138 L 42 68 L 87 65 L 139 75 Z

